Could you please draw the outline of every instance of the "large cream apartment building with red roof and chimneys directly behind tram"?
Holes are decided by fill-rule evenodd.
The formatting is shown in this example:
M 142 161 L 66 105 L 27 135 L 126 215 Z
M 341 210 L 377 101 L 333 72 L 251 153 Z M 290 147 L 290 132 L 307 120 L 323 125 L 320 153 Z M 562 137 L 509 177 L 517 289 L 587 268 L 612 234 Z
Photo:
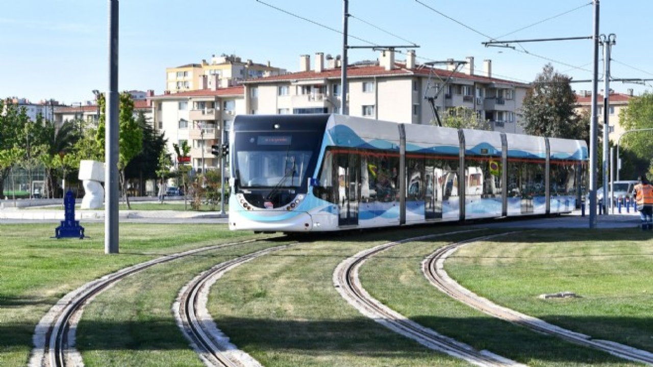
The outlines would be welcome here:
M 454 72 L 417 65 L 412 51 L 406 61 L 396 62 L 394 52 L 386 50 L 377 61 L 349 65 L 345 96 L 349 115 L 428 124 L 434 120 L 433 108 L 443 116 L 456 106 L 466 106 L 496 131 L 523 133 L 517 112 L 530 86 L 493 78 L 490 60 L 484 61 L 483 75 L 476 74 L 473 57 L 466 62 L 463 71 Z M 340 58 L 321 52 L 315 54 L 313 69 L 310 56 L 302 55 L 300 71 L 247 80 L 244 85 L 248 114 L 340 113 L 342 108 Z

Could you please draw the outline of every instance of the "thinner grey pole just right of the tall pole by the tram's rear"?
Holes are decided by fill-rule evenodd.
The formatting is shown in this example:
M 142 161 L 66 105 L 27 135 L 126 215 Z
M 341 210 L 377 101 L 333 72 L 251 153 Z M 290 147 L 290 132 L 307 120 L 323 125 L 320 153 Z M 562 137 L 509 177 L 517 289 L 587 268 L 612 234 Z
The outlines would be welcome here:
M 610 125 L 608 120 L 610 116 L 610 51 L 615 43 L 616 35 L 614 33 L 611 33 L 607 37 L 601 35 L 601 44 L 603 44 L 603 206 L 606 208 L 605 214 L 607 214 L 607 208 L 612 208 L 612 212 L 614 213 L 612 185 L 610 185 L 610 190 L 608 191 L 608 146 L 610 145 Z M 609 204 L 607 198 L 610 198 Z

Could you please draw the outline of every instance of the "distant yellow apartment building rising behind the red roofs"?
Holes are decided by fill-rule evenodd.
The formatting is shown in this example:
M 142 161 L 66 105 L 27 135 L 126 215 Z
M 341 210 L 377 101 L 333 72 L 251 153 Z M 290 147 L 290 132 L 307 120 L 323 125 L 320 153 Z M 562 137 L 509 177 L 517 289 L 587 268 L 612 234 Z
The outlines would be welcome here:
M 170 93 L 194 91 L 207 88 L 227 88 L 237 86 L 245 80 L 279 75 L 284 69 L 266 64 L 242 61 L 238 56 L 212 56 L 210 61 L 191 63 L 166 69 L 166 90 Z

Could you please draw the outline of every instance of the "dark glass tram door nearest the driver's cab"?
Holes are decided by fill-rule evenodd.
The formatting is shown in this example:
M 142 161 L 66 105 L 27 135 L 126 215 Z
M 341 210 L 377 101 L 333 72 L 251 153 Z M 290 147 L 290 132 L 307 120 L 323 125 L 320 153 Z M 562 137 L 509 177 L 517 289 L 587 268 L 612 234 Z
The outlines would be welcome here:
M 338 225 L 358 225 L 360 157 L 341 153 L 334 159 L 334 165 L 334 172 L 338 172 Z

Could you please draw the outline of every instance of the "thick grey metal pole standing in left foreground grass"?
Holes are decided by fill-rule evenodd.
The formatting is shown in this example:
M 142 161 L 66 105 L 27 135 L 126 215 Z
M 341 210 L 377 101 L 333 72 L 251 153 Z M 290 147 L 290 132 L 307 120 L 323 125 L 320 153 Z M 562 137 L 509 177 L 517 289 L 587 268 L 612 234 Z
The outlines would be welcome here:
M 109 89 L 104 142 L 104 253 L 118 253 L 118 0 L 109 0 Z

